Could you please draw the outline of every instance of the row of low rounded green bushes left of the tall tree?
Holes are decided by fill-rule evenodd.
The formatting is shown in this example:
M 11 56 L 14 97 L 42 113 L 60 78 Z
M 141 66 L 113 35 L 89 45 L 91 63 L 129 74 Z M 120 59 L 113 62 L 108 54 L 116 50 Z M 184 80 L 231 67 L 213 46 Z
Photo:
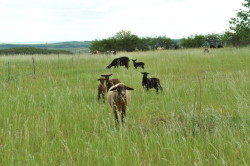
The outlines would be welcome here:
M 166 36 L 139 38 L 130 31 L 122 30 L 108 39 L 93 41 L 90 50 L 98 50 L 100 52 L 111 50 L 130 52 L 135 50 L 147 51 L 156 49 L 218 47 L 225 42 L 224 36 L 220 34 L 192 35 L 178 41 Z

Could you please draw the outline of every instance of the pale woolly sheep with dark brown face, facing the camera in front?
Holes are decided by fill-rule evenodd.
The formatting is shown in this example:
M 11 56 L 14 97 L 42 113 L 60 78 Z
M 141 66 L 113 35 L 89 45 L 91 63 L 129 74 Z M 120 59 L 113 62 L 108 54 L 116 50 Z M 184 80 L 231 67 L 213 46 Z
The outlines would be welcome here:
M 112 86 L 108 91 L 108 102 L 109 105 L 113 108 L 116 124 L 119 123 L 117 111 L 121 112 L 122 123 L 125 122 L 127 106 L 131 101 L 130 90 L 134 89 L 127 87 L 123 83 L 118 83 Z

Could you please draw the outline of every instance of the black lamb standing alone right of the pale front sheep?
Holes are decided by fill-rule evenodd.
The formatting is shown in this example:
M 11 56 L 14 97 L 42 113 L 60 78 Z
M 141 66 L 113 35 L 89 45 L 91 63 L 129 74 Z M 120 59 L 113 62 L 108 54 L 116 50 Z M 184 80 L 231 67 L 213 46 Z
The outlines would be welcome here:
M 155 88 L 157 94 L 158 94 L 159 89 L 163 91 L 161 84 L 160 84 L 160 80 L 158 78 L 147 78 L 149 73 L 147 72 L 141 72 L 141 73 L 143 74 L 142 86 L 144 89 L 148 91 L 150 88 Z

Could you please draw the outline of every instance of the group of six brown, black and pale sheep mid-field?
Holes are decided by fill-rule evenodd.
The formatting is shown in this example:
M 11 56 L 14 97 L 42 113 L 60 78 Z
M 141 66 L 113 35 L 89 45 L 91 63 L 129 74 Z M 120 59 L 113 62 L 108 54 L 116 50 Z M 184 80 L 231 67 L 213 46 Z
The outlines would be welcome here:
M 106 68 L 110 69 L 111 67 L 118 68 L 119 66 L 125 66 L 127 69 L 129 68 L 129 58 L 128 57 L 120 57 L 114 59 Z M 136 62 L 132 60 L 135 69 L 137 67 L 141 67 L 144 69 L 143 62 Z M 156 93 L 158 94 L 159 89 L 162 91 L 162 87 L 160 85 L 160 80 L 158 78 L 148 78 L 147 72 L 141 72 L 142 77 L 142 87 L 148 91 L 150 88 L 156 89 Z M 134 90 L 131 87 L 126 86 L 121 83 L 119 79 L 109 79 L 112 74 L 101 75 L 102 78 L 99 78 L 98 95 L 97 98 L 100 100 L 103 99 L 105 102 L 105 93 L 107 92 L 107 98 L 109 105 L 112 107 L 116 124 L 119 123 L 117 111 L 121 112 L 121 121 L 124 124 L 126 117 L 127 106 L 131 100 L 131 90 Z

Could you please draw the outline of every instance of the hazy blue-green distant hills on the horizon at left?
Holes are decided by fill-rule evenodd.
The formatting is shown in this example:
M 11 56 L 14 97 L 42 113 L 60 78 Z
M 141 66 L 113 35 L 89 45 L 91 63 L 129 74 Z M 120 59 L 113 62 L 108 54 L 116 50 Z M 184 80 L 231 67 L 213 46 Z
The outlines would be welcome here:
M 89 48 L 92 41 L 70 41 L 45 44 L 0 44 L 0 49 L 16 48 L 16 47 L 35 47 L 48 49 L 68 49 L 68 48 Z

